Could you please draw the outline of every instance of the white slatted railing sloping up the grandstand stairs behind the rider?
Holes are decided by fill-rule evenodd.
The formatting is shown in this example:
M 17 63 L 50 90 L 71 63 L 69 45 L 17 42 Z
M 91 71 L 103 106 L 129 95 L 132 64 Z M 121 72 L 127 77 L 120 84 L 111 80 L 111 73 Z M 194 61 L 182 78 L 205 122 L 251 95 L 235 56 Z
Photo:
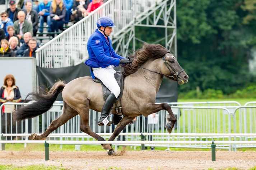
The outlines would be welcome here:
M 109 16 L 115 21 L 116 27 L 112 33 L 114 38 L 133 25 L 136 18 L 140 18 L 156 4 L 164 1 L 167 0 L 108 0 L 36 50 L 37 66 L 60 68 L 83 62 L 88 58 L 87 41 L 96 29 L 96 21 L 99 17 Z

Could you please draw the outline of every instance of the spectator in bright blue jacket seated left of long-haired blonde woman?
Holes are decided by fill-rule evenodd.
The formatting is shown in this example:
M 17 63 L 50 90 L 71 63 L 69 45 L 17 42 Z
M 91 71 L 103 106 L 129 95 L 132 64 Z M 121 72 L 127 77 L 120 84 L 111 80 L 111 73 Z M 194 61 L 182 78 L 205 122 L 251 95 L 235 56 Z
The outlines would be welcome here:
M 51 32 L 50 24 L 51 24 L 51 17 L 50 17 L 50 6 L 51 2 L 48 0 L 43 0 L 42 3 L 39 4 L 39 16 L 40 16 L 40 27 L 39 32 L 43 32 L 43 23 L 47 23 L 47 31 Z

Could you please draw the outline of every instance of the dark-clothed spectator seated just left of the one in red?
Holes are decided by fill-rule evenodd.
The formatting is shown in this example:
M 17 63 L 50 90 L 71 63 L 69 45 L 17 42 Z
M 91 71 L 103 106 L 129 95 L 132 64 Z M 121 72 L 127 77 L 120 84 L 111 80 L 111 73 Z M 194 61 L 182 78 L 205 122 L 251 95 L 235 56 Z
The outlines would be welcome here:
M 90 0 L 74 0 L 73 7 L 72 7 L 73 9 L 72 20 L 74 20 L 74 23 L 77 23 L 78 21 L 80 21 L 86 16 L 85 12 L 89 4 L 90 4 Z

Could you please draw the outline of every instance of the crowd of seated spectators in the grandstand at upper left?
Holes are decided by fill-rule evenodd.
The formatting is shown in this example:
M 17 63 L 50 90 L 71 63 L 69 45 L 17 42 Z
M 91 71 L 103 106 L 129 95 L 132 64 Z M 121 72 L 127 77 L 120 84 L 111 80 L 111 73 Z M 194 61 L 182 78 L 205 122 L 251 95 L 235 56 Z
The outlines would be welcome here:
M 40 0 L 39 0 L 40 1 Z M 48 35 L 76 23 L 107 0 L 15 0 L 1 12 L 0 57 L 36 57 L 37 36 L 42 36 L 44 23 Z

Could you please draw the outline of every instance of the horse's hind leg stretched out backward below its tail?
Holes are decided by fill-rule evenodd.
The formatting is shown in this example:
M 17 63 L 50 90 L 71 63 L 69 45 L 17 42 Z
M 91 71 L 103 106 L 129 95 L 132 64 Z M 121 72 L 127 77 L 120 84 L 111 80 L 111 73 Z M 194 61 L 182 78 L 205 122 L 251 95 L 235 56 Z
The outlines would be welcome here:
M 66 102 L 63 102 L 63 113 L 62 115 L 57 118 L 56 120 L 51 122 L 51 125 L 47 128 L 45 132 L 43 132 L 42 135 L 37 135 L 36 133 L 33 133 L 29 136 L 29 139 L 31 140 L 45 140 L 46 137 L 56 130 L 61 125 L 65 124 L 68 120 L 73 118 L 74 116 L 78 115 L 78 112 L 76 112 L 73 108 L 71 108 Z

